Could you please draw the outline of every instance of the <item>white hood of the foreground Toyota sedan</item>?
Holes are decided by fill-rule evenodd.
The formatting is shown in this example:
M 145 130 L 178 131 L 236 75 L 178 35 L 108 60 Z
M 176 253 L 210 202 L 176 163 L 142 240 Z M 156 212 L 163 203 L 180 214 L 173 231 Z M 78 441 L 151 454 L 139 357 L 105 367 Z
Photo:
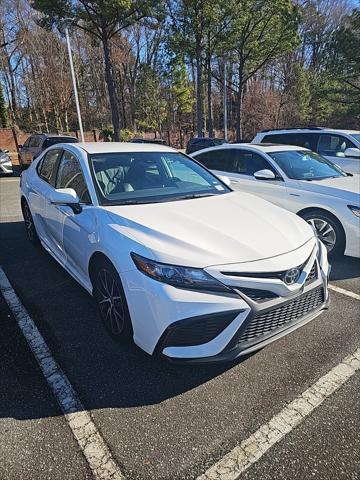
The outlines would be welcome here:
M 144 245 L 154 260 L 177 265 L 261 260 L 296 250 L 314 236 L 293 213 L 240 192 L 102 208 L 109 224 Z

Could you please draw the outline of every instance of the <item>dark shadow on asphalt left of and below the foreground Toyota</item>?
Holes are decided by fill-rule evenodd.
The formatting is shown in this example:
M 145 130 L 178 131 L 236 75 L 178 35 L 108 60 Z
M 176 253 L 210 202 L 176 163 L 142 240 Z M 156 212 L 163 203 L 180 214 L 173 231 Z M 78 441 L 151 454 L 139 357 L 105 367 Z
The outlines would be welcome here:
M 103 328 L 91 296 L 44 249 L 29 244 L 22 222 L 0 224 L 0 239 L 0 265 L 88 409 L 158 404 L 245 360 L 218 365 L 175 365 L 151 357 L 135 345 L 117 344 Z M 25 341 L 18 327 L 5 318 L 8 313 L 3 305 L 1 322 L 6 320 L 11 333 L 3 327 L 0 336 L 0 351 L 5 355 L 1 360 L 5 383 L 4 377 L 0 383 L 5 385 L 10 377 L 15 378 L 16 388 L 24 389 L 25 400 L 26 389 L 32 385 L 27 366 L 33 358 L 30 351 L 24 353 L 28 350 Z M 12 375 L 7 377 L 5 370 L 12 371 Z M 29 408 L 32 402 L 19 402 L 15 408 L 13 390 L 7 395 L 5 388 L 3 395 L 0 416 L 47 415 L 46 409 L 39 411 L 34 405 Z M 17 392 L 16 397 L 19 395 Z

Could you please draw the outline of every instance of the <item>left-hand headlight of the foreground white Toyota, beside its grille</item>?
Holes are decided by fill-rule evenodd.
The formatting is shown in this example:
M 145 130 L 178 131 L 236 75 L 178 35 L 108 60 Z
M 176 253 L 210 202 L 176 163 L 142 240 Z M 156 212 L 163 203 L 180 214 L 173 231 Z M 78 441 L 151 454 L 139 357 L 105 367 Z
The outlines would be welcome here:
M 155 262 L 133 252 L 131 253 L 131 258 L 140 272 L 158 282 L 191 290 L 232 292 L 231 288 L 216 280 L 202 268 L 181 267 L 179 265 Z

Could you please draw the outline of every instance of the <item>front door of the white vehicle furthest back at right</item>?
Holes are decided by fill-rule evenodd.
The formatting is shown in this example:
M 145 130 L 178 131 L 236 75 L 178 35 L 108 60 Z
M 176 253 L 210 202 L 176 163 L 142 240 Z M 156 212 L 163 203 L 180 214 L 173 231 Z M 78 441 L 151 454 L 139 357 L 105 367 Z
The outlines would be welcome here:
M 360 173 L 360 159 L 345 157 L 347 148 L 357 148 L 356 145 L 343 135 L 337 133 L 322 133 L 316 152 L 339 165 L 345 172 Z

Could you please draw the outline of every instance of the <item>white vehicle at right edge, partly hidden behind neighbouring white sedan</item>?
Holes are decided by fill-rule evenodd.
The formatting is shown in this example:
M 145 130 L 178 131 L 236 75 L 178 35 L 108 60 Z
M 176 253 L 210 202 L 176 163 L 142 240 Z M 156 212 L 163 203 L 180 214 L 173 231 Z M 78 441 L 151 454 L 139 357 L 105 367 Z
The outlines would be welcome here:
M 263 130 L 252 143 L 280 143 L 309 148 L 346 172 L 360 174 L 360 131 L 333 128 Z

